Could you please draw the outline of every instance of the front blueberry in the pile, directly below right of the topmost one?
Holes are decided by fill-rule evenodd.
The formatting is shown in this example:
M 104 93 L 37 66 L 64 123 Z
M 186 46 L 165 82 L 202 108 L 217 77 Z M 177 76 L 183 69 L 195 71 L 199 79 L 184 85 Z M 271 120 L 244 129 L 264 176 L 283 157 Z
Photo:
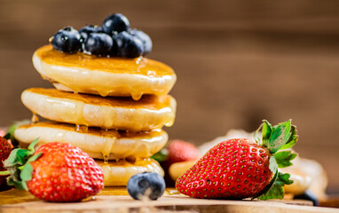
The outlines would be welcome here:
M 112 54 L 118 57 L 137 58 L 144 54 L 144 44 L 136 36 L 121 32 L 112 36 Z

